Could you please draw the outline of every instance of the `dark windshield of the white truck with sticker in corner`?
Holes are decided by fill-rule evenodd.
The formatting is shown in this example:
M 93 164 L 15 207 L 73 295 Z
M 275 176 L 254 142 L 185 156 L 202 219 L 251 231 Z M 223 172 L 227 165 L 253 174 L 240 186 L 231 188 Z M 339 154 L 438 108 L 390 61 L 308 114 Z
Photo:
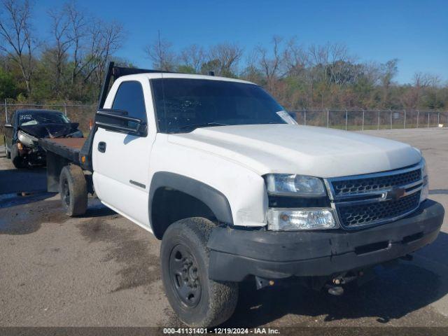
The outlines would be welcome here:
M 292 120 L 258 85 L 190 78 L 153 79 L 152 85 L 162 133 L 221 125 L 286 124 Z

